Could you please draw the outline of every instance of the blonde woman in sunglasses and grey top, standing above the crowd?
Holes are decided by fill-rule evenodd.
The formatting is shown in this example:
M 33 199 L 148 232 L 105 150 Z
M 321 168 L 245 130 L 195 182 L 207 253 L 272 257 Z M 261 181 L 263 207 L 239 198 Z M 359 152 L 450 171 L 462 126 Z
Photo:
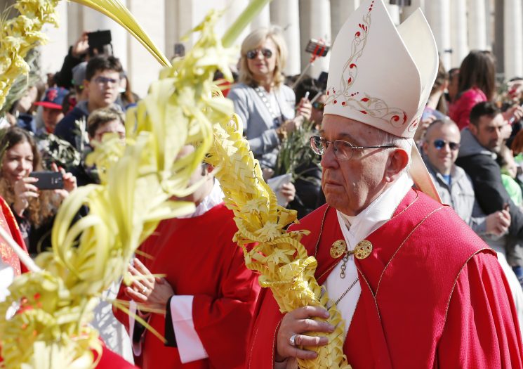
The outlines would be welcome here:
M 310 102 L 303 98 L 295 112 L 294 91 L 283 83 L 286 58 L 286 44 L 277 30 L 251 32 L 241 44 L 240 83 L 227 95 L 244 122 L 254 156 L 269 171 L 274 169 L 279 143 L 310 118 Z

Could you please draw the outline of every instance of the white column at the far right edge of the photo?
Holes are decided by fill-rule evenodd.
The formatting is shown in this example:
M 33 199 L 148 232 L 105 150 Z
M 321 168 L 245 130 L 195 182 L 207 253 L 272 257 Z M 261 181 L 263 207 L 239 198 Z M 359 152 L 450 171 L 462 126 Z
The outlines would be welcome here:
M 505 79 L 523 76 L 523 15 L 521 0 L 505 0 Z

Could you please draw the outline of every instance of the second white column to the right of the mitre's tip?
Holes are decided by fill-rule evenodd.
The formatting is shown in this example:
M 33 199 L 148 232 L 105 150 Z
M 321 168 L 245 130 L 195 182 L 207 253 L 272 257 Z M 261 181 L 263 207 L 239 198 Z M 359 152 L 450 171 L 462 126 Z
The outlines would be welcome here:
M 467 0 L 453 0 L 451 7 L 451 67 L 459 67 L 468 54 Z

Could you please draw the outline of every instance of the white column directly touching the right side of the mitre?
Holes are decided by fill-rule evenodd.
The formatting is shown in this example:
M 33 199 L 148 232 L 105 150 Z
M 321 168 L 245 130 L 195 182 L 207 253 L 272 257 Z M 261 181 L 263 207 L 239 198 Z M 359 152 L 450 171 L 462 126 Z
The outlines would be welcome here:
M 432 28 L 439 55 L 447 70 L 451 66 L 450 0 L 425 1 L 425 16 Z

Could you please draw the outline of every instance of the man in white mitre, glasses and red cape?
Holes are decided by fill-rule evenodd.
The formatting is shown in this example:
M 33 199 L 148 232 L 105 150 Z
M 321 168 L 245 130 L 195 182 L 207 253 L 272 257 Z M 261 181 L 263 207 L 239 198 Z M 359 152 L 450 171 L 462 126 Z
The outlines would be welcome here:
M 303 243 L 345 321 L 353 369 L 523 368 L 496 253 L 437 201 L 413 145 L 437 59 L 421 11 L 395 27 L 382 0 L 363 1 L 333 44 L 322 128 L 310 141 L 327 204 L 293 229 L 311 231 Z M 327 314 L 282 314 L 263 290 L 247 368 L 315 358 L 309 348 L 327 338 L 314 332 L 333 327 L 312 318 Z

